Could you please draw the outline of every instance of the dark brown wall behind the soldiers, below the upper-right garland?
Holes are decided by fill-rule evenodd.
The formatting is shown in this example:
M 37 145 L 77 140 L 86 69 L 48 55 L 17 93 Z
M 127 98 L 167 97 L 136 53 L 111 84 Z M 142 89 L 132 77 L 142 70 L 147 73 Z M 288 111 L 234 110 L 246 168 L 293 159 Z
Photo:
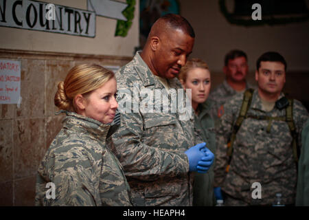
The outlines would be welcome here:
M 306 2 L 309 5 L 309 1 Z M 258 57 L 271 50 L 286 58 L 288 70 L 309 70 L 309 21 L 245 28 L 231 25 L 225 19 L 218 1 L 205 0 L 182 0 L 181 14 L 190 21 L 196 32 L 192 57 L 203 58 L 213 72 L 222 71 L 225 54 L 235 48 L 247 53 L 252 74 Z

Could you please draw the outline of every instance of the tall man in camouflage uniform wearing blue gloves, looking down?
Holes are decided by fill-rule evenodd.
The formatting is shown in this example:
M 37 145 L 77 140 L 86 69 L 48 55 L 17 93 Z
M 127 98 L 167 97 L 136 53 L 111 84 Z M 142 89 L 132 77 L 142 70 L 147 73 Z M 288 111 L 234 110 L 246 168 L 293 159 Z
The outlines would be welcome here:
M 191 106 L 190 117 L 181 118 L 178 108 L 172 111 L 174 95 L 182 91 L 176 76 L 192 52 L 194 36 L 187 20 L 167 14 L 152 25 L 144 50 L 116 73 L 120 122 L 111 139 L 136 206 L 192 206 L 191 171 L 206 172 L 213 162 L 211 152 L 205 153 L 207 159 L 201 151 L 188 153 L 201 142 Z

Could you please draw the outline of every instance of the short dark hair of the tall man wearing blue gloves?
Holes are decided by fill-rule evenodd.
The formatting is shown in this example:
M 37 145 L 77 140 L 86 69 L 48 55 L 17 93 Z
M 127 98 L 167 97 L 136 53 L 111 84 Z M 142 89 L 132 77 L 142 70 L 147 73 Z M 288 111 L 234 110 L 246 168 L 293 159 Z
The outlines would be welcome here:
M 192 38 L 195 38 L 195 33 L 192 28 L 192 25 L 190 25 L 187 19 L 180 16 L 179 14 L 165 14 L 160 19 L 163 19 L 164 21 L 166 21 L 170 25 L 171 28 L 181 29 L 183 30 L 183 32 L 185 32 Z

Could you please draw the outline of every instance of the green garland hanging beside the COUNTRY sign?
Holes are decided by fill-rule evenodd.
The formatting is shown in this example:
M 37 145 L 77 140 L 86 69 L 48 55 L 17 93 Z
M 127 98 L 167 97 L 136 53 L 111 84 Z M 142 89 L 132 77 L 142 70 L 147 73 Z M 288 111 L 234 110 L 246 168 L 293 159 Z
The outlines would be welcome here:
M 135 0 L 126 0 L 128 6 L 122 12 L 124 17 L 126 17 L 127 21 L 117 21 L 115 36 L 126 36 L 128 34 L 128 30 L 132 25 L 132 20 L 134 19 L 134 11 L 135 11 Z

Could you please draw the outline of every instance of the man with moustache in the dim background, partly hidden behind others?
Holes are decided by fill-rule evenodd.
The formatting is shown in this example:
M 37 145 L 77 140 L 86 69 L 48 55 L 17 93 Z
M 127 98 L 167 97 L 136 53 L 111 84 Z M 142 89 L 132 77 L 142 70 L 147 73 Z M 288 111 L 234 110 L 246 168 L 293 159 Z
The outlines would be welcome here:
M 218 124 L 218 119 L 223 112 L 223 104 L 245 89 L 252 88 L 247 83 L 248 74 L 247 54 L 241 50 L 231 50 L 225 55 L 225 67 L 223 67 L 225 80 L 218 85 L 209 95 L 209 99 L 214 103 L 211 108 L 211 116 Z

